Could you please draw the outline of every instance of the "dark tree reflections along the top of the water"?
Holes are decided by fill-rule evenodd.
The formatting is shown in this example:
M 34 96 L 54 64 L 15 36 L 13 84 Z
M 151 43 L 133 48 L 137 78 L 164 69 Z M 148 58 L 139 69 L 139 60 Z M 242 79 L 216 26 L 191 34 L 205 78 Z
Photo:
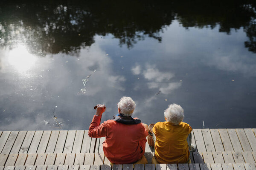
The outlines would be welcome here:
M 183 27 L 220 26 L 220 32 L 244 28 L 249 51 L 256 53 L 255 2 L 249 1 L 79 1 L 31 0 L 0 2 L 0 46 L 25 43 L 33 54 L 77 54 L 95 35 L 112 34 L 132 48 L 145 37 L 161 42 L 173 20 Z

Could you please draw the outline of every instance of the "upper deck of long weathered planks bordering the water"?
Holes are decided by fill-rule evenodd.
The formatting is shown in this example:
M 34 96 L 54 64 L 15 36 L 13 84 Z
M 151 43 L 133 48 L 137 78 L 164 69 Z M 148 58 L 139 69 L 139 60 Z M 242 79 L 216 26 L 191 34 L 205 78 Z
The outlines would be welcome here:
M 199 152 L 256 151 L 256 129 L 194 129 Z M 88 130 L 0 131 L 0 153 L 103 153 L 105 137 L 90 138 Z M 145 152 L 154 152 L 146 144 Z

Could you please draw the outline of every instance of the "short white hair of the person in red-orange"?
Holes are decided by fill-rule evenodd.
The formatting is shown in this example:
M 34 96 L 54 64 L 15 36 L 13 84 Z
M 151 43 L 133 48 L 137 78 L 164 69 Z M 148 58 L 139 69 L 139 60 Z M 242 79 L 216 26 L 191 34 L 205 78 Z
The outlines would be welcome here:
M 131 99 L 131 97 L 123 96 L 119 103 L 117 103 L 117 106 L 120 109 L 120 113 L 125 116 L 131 116 L 136 107 L 136 104 L 133 99 Z

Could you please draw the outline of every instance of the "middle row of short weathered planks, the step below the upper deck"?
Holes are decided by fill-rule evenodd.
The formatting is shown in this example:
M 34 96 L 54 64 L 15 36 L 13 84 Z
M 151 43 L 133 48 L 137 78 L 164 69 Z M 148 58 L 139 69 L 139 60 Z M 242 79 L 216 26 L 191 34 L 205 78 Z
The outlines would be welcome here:
M 193 152 L 195 164 L 256 164 L 254 152 Z M 151 164 L 153 153 L 145 153 Z M 0 154 L 0 166 L 110 164 L 104 153 L 11 153 Z M 156 167 L 155 167 L 156 168 Z M 168 168 L 167 168 L 168 169 Z

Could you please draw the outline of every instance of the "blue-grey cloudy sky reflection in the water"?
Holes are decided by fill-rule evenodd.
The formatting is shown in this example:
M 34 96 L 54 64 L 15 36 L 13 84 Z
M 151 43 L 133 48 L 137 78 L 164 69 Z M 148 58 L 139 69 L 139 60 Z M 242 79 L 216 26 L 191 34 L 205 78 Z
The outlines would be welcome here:
M 0 129 L 55 130 L 52 111 L 62 129 L 88 129 L 94 105 L 105 104 L 102 121 L 111 119 L 122 96 L 135 100 L 134 116 L 147 124 L 164 121 L 175 102 L 193 128 L 255 125 L 256 56 L 244 48 L 242 28 L 227 35 L 174 20 L 160 36 L 128 49 L 96 35 L 78 57 L 38 57 L 24 44 L 1 49 Z

